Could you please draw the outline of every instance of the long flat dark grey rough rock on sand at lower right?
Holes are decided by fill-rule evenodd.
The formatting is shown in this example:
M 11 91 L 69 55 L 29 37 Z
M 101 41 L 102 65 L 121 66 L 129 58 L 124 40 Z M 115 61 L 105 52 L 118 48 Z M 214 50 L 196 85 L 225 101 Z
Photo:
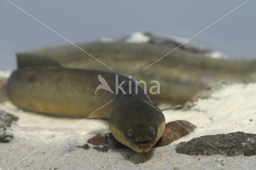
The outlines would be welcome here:
M 193 138 L 188 142 L 181 142 L 177 144 L 175 150 L 177 153 L 188 155 L 226 154 L 227 156 L 237 156 L 242 154 L 252 156 L 256 154 L 256 134 L 232 132 L 206 135 Z

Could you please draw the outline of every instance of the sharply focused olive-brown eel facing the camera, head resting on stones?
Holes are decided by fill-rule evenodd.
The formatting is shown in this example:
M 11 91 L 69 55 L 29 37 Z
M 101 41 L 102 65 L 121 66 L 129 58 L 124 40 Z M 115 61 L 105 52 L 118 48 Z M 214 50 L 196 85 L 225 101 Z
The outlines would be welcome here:
M 7 84 L 7 95 L 17 107 L 60 116 L 87 117 L 95 111 L 110 115 L 113 136 L 136 152 L 148 152 L 162 136 L 162 111 L 133 79 L 107 71 L 65 68 L 47 57 L 17 57 L 17 61 L 18 69 Z M 110 90 L 97 88 L 99 77 Z

